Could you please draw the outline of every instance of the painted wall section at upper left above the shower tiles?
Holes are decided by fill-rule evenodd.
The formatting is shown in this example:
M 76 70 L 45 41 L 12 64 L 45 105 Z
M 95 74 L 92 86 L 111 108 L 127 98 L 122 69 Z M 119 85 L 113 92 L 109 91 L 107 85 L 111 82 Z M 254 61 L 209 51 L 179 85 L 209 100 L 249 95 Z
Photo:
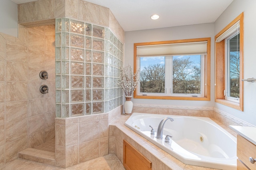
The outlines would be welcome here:
M 18 5 L 0 0 L 0 32 L 18 37 Z

